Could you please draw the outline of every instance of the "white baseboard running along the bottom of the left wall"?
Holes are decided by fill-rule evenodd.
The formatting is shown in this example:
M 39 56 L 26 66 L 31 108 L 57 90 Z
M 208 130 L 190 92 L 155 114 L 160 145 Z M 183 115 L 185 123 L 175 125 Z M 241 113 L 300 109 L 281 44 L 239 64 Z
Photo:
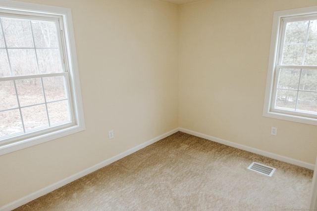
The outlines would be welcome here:
M 78 173 L 75 173 L 75 174 L 73 174 L 65 179 L 62 179 L 58 182 L 55 182 L 52 185 L 49 185 L 49 186 L 42 188 L 34 193 L 31 193 L 25 197 L 22 197 L 22 198 L 20 198 L 16 201 L 13 201 L 7 205 L 4 205 L 4 206 L 0 207 L 0 211 L 14 210 L 14 209 L 16 209 L 16 208 L 18 208 L 18 207 L 20 207 L 28 202 L 31 202 L 31 201 L 33 201 L 41 196 L 44 196 L 45 194 L 52 192 L 52 191 L 54 191 L 54 190 L 56 190 L 64 185 L 72 182 L 72 181 L 75 181 L 76 179 L 79 179 L 83 176 L 86 176 L 87 174 L 90 174 L 90 173 L 92 173 L 98 169 L 101 169 L 101 168 L 103 168 L 103 167 L 105 167 L 105 166 L 107 166 L 107 165 L 109 165 L 117 160 L 120 160 L 121 158 L 124 158 L 124 157 L 126 157 L 126 156 L 128 156 L 128 155 L 130 155 L 130 154 L 132 154 L 132 153 L 134 153 L 142 148 L 145 148 L 145 147 L 147 147 L 147 146 L 149 146 L 149 145 L 151 145 L 151 144 L 153 144 L 153 143 L 155 143 L 155 142 L 157 142 L 157 141 L 159 141 L 159 140 L 161 140 L 161 139 L 163 139 L 163 138 L 165 138 L 165 137 L 167 137 L 167 136 L 169 136 L 177 131 L 178 131 L 178 128 L 173 129 L 173 130 L 166 132 L 162 135 L 159 135 L 158 137 L 155 137 L 155 138 L 153 138 L 153 139 L 151 139 L 143 144 L 140 144 L 132 149 L 129 149 L 129 150 L 122 152 L 122 153 L 120 153 L 112 158 L 109 158 L 109 159 L 107 159 L 99 164 L 96 164 L 88 169 L 84 169 L 84 170 L 82 170 Z

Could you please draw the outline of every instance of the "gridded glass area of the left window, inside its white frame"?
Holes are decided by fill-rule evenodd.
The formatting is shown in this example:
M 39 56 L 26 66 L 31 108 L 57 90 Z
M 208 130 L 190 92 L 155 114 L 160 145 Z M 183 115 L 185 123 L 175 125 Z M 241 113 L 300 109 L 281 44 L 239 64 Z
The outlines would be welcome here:
M 1 13 L 0 27 L 0 142 L 73 125 L 59 18 Z

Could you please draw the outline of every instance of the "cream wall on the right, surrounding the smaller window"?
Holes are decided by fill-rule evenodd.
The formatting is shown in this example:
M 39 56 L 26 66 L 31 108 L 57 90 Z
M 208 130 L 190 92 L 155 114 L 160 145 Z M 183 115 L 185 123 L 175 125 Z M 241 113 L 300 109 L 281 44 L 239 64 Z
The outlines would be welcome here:
M 179 126 L 314 164 L 316 126 L 262 116 L 273 12 L 313 5 L 316 0 L 181 5 Z

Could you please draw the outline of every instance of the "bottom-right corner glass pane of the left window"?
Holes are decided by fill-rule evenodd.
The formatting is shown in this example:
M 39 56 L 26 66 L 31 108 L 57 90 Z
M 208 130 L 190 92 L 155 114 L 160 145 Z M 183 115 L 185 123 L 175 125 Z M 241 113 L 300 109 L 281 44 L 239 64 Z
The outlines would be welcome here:
M 68 100 L 48 103 L 48 111 L 51 125 L 70 122 Z

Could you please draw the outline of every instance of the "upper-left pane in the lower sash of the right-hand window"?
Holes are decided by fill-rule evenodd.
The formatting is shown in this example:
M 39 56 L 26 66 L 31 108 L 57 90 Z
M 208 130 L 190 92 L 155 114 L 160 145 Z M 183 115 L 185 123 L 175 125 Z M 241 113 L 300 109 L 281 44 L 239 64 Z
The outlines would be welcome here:
M 280 69 L 278 88 L 298 89 L 300 69 Z

